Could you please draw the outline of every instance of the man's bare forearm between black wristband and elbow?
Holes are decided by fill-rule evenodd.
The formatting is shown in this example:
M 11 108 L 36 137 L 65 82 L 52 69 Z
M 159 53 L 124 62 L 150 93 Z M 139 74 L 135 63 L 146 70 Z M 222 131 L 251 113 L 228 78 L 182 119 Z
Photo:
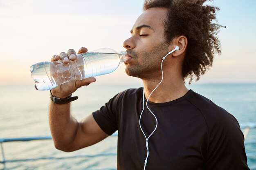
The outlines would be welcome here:
M 54 145 L 57 149 L 67 151 L 76 137 L 79 123 L 70 114 L 70 103 L 49 104 L 49 125 Z

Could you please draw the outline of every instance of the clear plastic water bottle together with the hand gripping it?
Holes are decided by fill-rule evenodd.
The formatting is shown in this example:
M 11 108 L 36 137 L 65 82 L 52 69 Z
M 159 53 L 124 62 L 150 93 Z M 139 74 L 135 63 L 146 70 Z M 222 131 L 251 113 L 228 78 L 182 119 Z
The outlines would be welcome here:
M 87 49 L 82 47 L 78 54 L 70 49 L 67 53 L 54 55 L 51 62 L 39 62 L 32 65 L 30 67 L 31 77 L 35 81 L 37 90 L 54 88 L 52 93 L 56 93 L 56 97 L 63 98 L 63 96 L 69 96 L 77 88 L 95 82 L 94 76 L 115 71 L 120 62 L 126 61 L 127 57 L 126 52 L 117 53 L 109 48 L 87 52 Z M 68 83 L 70 81 L 72 83 Z M 60 87 L 56 88 L 57 86 Z

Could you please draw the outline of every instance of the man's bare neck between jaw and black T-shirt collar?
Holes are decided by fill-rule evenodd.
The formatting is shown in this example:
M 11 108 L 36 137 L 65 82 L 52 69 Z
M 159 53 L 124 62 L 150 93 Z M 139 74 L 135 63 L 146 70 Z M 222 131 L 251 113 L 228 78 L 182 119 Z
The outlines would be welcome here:
M 157 76 L 155 79 L 143 79 L 144 93 L 146 99 L 148 99 L 150 93 L 155 89 L 162 79 Z M 154 103 L 164 103 L 170 102 L 184 96 L 189 90 L 186 88 L 183 78 L 171 77 L 170 75 L 164 76 L 162 83 L 157 87 L 157 89 L 150 95 L 148 99 L 150 102 Z

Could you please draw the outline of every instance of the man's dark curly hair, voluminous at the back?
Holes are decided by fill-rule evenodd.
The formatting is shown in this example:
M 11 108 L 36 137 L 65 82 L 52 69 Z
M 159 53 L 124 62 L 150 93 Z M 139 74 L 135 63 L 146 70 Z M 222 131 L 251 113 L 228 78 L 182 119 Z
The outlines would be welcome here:
M 219 55 L 220 42 L 216 35 L 220 24 L 216 20 L 218 7 L 204 5 L 207 0 L 145 0 L 143 10 L 160 7 L 167 8 L 168 12 L 164 21 L 166 42 L 180 35 L 186 36 L 188 46 L 182 64 L 182 75 L 185 79 L 193 77 L 200 79 L 207 69 L 212 66 L 214 54 Z

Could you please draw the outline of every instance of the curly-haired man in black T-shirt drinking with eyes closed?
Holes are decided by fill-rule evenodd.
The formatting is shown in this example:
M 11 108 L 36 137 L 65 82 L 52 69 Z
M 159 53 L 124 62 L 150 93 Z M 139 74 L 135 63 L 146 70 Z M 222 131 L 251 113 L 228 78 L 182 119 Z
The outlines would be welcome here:
M 142 79 L 144 88 L 119 93 L 81 122 L 70 115 L 70 103 L 50 102 L 56 148 L 78 150 L 118 130 L 118 170 L 248 170 L 236 119 L 184 85 L 187 77 L 189 83 L 193 76 L 199 79 L 212 65 L 214 52 L 220 53 L 215 36 L 220 26 L 211 23 L 217 8 L 204 2 L 145 1 L 144 13 L 123 44 L 129 54 L 126 73 Z M 68 63 L 76 53 L 70 49 L 54 60 Z M 65 101 L 95 81 L 68 82 L 51 95 Z

